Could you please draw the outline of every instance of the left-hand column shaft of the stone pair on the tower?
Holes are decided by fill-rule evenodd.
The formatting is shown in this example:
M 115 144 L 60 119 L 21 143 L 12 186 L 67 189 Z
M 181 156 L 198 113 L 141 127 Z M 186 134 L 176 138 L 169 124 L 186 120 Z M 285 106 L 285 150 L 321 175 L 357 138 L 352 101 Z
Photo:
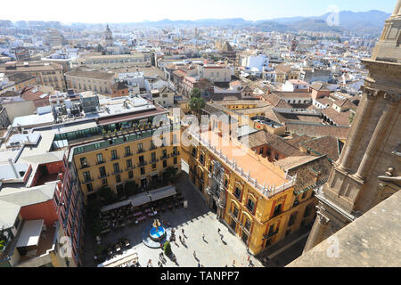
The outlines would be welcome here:
M 356 114 L 356 120 L 352 123 L 351 134 L 348 136 L 346 148 L 341 154 L 339 168 L 342 170 L 347 170 L 352 165 L 352 156 L 355 154 L 359 146 L 356 140 L 361 137 L 362 132 L 364 131 L 364 124 L 371 116 L 372 107 L 374 106 L 376 99 L 377 92 L 373 89 L 365 88 L 364 92 L 366 94 L 366 100 L 364 100 L 364 105 L 361 106 Z

